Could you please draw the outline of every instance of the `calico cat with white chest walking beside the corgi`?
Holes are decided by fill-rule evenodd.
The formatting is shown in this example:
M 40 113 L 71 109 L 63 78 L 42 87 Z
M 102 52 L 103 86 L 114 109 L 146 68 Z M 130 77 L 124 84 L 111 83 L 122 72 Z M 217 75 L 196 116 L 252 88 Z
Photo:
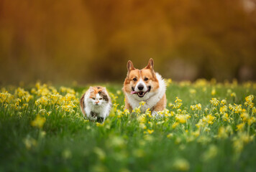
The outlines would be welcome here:
M 106 87 L 90 87 L 80 100 L 80 107 L 85 118 L 103 123 L 109 116 L 111 109 L 111 98 Z

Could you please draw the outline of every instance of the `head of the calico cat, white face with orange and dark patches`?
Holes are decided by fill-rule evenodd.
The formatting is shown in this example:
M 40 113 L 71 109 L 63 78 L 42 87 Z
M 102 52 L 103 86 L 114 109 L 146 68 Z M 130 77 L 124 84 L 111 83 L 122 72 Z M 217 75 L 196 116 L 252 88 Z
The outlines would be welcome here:
M 90 87 L 90 101 L 93 105 L 102 105 L 109 102 L 109 97 L 106 95 L 106 87 Z

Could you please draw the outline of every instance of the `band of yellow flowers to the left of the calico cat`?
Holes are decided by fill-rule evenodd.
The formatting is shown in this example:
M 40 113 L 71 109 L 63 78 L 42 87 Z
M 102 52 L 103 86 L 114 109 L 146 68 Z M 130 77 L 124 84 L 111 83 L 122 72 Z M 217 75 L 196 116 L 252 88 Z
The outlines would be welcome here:
M 0 105 L 5 113 L 17 115 L 20 118 L 26 113 L 37 115 L 31 123 L 37 128 L 42 128 L 45 123 L 43 116 L 50 115 L 52 110 L 58 110 L 62 117 L 65 114 L 79 116 L 77 113 L 79 100 L 77 93 L 71 88 L 60 87 L 58 92 L 55 87 L 37 82 L 30 92 L 22 87 L 9 89 L 13 94 L 7 92 L 5 88 L 1 90 Z

